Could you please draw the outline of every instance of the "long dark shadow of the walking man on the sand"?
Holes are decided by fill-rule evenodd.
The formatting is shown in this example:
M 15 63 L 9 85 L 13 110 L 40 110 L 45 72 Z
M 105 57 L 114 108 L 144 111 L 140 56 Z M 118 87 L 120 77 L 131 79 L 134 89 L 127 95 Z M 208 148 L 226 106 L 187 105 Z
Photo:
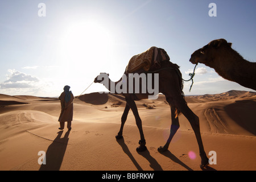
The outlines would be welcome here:
M 57 137 L 49 145 L 46 151 L 46 164 L 42 164 L 39 171 L 59 171 L 61 163 L 64 158 L 65 151 L 68 146 L 68 130 L 63 138 L 60 138 L 63 134 L 63 130 L 57 133 Z

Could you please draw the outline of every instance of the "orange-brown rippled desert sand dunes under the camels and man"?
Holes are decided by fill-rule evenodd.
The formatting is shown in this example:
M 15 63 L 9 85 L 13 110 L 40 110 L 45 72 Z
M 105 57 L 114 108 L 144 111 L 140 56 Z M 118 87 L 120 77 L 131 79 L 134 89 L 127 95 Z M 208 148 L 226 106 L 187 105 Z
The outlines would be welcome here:
M 256 93 L 231 90 L 186 96 L 200 118 L 205 152 L 216 151 L 207 170 L 256 170 Z M 0 94 L 0 170 L 201 171 L 199 147 L 184 115 L 169 150 L 171 110 L 163 95 L 137 101 L 147 151 L 137 152 L 139 131 L 130 111 L 123 139 L 116 140 L 124 97 L 84 94 L 74 101 L 72 130 L 60 131 L 57 98 Z M 38 163 L 46 152 L 46 165 Z M 210 158 L 210 155 L 208 155 Z

